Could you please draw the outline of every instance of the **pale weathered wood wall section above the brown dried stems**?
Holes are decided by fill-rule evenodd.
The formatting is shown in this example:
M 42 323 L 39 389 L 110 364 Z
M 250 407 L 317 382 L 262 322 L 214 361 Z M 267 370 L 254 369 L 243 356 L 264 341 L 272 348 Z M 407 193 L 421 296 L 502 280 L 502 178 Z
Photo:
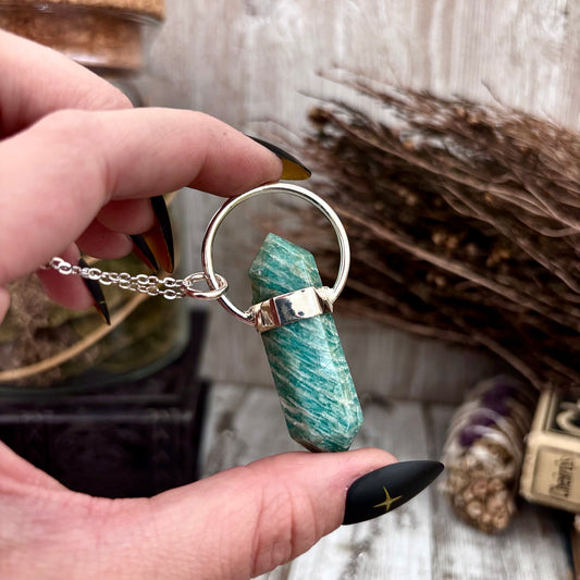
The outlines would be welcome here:
M 306 126 L 341 67 L 580 128 L 580 5 L 567 0 L 166 0 L 153 52 L 190 106 L 237 126 Z

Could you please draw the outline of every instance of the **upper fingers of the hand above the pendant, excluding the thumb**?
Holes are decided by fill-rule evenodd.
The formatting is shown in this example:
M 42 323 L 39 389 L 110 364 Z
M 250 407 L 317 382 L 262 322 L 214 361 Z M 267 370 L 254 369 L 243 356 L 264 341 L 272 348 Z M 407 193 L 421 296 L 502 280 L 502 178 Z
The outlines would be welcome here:
M 52 256 L 132 250 L 153 222 L 145 198 L 193 186 L 232 196 L 276 181 L 282 162 L 202 113 L 131 109 L 115 88 L 48 49 L 0 36 L 0 320 L 5 285 Z M 92 252 L 95 254 L 95 252 Z M 49 295 L 91 305 L 83 282 L 39 273 Z

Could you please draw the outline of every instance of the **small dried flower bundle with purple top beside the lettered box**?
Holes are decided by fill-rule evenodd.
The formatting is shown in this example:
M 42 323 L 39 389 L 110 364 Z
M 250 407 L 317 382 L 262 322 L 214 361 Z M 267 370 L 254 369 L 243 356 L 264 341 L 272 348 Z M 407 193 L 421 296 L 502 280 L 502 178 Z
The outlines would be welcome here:
M 504 530 L 516 511 L 535 400 L 531 385 L 496 377 L 477 385 L 451 422 L 442 491 L 462 520 L 486 533 Z

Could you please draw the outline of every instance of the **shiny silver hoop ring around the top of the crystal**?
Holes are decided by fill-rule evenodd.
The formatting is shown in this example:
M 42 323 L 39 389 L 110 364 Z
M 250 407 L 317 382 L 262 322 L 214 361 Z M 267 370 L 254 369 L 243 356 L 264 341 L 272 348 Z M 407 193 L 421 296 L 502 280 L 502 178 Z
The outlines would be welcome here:
M 250 189 L 249 192 L 246 192 L 240 196 L 232 197 L 231 199 L 225 201 L 225 203 L 215 212 L 215 214 L 208 224 L 206 234 L 203 236 L 203 243 L 201 246 L 201 263 L 203 267 L 203 273 L 206 274 L 206 280 L 208 281 L 210 288 L 217 291 L 221 287 L 220 277 L 218 274 L 215 274 L 213 270 L 212 254 L 213 242 L 215 239 L 215 234 L 218 233 L 220 225 L 223 223 L 223 221 L 232 210 L 237 208 L 237 206 L 239 206 L 247 199 L 263 194 L 270 194 L 273 192 L 282 192 L 285 194 L 289 194 L 294 197 L 299 197 L 310 202 L 324 214 L 326 220 L 329 220 L 332 227 L 334 229 L 334 233 L 336 234 L 336 238 L 338 240 L 338 248 L 341 250 L 341 262 L 338 264 L 336 282 L 334 283 L 334 286 L 330 289 L 329 293 L 329 301 L 331 304 L 334 303 L 343 291 L 344 285 L 346 284 L 346 280 L 348 277 L 348 269 L 350 267 L 350 246 L 348 244 L 348 236 L 346 235 L 346 231 L 338 215 L 322 198 L 320 198 L 318 195 L 313 194 L 309 189 L 306 189 L 305 187 L 300 187 L 299 185 L 294 185 L 291 183 L 275 183 L 256 187 L 255 189 Z M 243 322 L 246 322 L 247 324 L 252 324 L 250 311 L 240 310 L 239 308 L 234 306 L 232 301 L 223 294 L 218 298 L 218 301 L 237 319 L 242 320 Z

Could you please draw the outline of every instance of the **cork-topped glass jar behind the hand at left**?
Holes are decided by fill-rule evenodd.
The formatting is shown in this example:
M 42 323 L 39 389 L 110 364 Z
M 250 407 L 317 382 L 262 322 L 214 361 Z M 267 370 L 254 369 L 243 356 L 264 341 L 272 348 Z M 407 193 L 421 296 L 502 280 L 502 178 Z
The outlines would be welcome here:
M 147 52 L 163 21 L 163 0 L 0 0 L 0 27 L 50 46 L 107 78 L 134 106 L 173 106 L 170 91 L 148 74 Z M 165 196 L 172 214 L 181 275 L 178 196 Z M 152 273 L 132 255 L 85 258 L 101 270 Z M 135 381 L 169 365 L 188 340 L 184 300 L 168 301 L 103 287 L 112 324 L 95 310 L 52 304 L 36 276 L 11 284 L 11 308 L 0 325 L 0 391 L 77 388 Z

